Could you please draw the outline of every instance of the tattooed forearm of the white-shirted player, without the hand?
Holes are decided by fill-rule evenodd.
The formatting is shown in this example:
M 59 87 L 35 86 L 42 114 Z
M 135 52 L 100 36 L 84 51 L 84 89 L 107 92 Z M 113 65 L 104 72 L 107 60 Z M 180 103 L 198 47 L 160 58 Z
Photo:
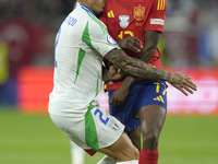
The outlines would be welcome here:
M 164 81 L 170 81 L 172 78 L 172 72 L 153 68 L 138 59 L 126 56 L 121 49 L 112 49 L 105 57 L 114 66 L 134 77 Z

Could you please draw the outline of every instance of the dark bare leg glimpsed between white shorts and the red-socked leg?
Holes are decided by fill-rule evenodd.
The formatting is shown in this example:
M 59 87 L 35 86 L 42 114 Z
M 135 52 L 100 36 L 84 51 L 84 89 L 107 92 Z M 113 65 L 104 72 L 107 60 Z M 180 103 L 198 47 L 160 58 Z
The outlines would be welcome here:
M 128 136 L 137 150 L 141 151 L 141 126 L 128 132 Z

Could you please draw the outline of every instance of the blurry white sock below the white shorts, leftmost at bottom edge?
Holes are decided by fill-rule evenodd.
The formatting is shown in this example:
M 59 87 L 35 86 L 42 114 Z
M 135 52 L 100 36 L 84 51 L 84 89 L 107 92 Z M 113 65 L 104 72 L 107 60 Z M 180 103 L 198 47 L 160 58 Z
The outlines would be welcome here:
M 85 151 L 71 141 L 72 164 L 84 164 Z

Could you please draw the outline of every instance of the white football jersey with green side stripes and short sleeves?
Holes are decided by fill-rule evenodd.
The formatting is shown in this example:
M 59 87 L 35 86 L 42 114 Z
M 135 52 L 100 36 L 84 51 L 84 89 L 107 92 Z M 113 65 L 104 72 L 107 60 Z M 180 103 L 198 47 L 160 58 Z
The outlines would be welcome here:
M 102 58 L 113 48 L 120 49 L 106 25 L 77 3 L 56 37 L 50 114 L 81 117 L 86 113 L 102 89 Z

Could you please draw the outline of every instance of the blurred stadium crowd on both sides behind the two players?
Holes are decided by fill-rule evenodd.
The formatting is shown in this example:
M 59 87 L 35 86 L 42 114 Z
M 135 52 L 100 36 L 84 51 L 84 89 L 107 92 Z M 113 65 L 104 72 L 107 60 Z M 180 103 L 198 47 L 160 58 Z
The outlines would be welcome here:
M 0 0 L 0 104 L 16 104 L 21 67 L 53 65 L 56 33 L 74 3 Z M 158 45 L 165 67 L 216 68 L 217 43 L 218 0 L 168 0 L 165 32 Z

